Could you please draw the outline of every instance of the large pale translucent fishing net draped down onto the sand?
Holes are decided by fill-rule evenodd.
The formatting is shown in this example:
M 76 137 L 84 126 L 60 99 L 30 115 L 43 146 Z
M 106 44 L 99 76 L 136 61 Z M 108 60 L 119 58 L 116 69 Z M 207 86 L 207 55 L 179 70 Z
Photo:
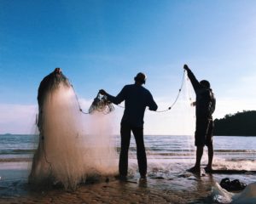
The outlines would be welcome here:
M 107 120 L 100 112 L 84 115 L 67 79 L 49 88 L 42 104 L 38 150 L 29 176 L 31 184 L 50 181 L 75 189 L 90 176 L 117 173 L 109 116 Z

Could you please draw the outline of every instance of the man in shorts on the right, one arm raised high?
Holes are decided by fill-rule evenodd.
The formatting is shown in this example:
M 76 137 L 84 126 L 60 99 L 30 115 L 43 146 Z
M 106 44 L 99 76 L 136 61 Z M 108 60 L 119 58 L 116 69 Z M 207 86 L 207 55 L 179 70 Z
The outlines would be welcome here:
M 201 172 L 201 156 L 203 155 L 203 148 L 207 145 L 208 148 L 208 164 L 205 167 L 206 172 L 212 170 L 213 145 L 212 145 L 212 131 L 213 121 L 212 113 L 215 110 L 216 99 L 210 88 L 210 82 L 202 80 L 198 82 L 195 75 L 190 71 L 188 65 L 183 68 L 188 72 L 188 77 L 195 90 L 195 146 L 196 146 L 196 161 L 195 166 L 189 169 L 189 172 Z

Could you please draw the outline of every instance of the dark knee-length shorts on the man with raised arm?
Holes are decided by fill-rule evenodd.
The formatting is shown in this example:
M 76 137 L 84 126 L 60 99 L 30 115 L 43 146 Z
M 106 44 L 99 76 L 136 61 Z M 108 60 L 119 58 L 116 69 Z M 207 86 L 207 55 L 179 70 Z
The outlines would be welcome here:
M 196 120 L 195 146 L 209 146 L 212 144 L 212 133 L 214 123 L 211 118 Z

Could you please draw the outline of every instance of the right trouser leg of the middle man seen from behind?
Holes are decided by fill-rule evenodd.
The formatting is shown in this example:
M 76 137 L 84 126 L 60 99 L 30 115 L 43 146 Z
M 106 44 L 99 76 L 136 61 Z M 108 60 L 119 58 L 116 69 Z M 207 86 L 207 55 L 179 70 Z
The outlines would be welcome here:
M 143 127 L 132 128 L 132 133 L 137 144 L 137 163 L 141 178 L 146 178 L 147 174 L 147 156 L 143 139 Z

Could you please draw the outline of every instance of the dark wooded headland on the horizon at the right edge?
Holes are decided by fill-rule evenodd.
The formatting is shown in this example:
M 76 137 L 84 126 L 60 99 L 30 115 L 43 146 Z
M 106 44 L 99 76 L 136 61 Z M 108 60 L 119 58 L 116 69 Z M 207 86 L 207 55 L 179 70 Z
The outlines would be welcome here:
M 215 119 L 213 135 L 256 136 L 256 111 L 242 111 Z

